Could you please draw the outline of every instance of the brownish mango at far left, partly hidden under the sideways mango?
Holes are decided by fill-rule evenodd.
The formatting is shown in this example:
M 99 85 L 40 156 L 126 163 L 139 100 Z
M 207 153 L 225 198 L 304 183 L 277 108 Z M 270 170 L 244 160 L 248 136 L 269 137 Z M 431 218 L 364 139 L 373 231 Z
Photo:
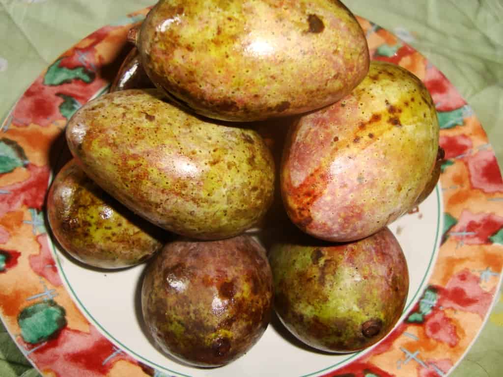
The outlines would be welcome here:
M 59 244 L 75 259 L 100 268 L 142 263 L 159 251 L 167 232 L 136 216 L 68 161 L 47 196 L 47 217 Z

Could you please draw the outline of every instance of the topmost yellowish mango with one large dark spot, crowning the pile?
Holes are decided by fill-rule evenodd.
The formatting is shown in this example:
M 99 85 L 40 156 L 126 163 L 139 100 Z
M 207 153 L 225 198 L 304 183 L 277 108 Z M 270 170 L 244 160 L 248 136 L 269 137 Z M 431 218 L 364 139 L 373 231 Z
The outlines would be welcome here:
M 137 46 L 157 87 L 228 121 L 329 105 L 369 67 L 363 30 L 338 0 L 160 0 Z

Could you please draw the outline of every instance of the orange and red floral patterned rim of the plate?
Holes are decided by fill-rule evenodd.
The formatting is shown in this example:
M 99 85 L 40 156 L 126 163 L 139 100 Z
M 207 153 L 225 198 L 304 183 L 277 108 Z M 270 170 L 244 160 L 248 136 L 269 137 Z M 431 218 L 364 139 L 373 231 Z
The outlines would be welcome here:
M 66 121 L 106 90 L 127 52 L 128 28 L 146 13 L 106 26 L 63 53 L 2 125 L 0 315 L 25 355 L 48 376 L 164 375 L 117 348 L 78 310 L 58 274 L 43 212 L 51 176 L 69 158 Z M 432 94 L 446 151 L 444 229 L 427 288 L 404 320 L 370 352 L 316 374 L 442 376 L 476 338 L 498 291 L 503 181 L 483 128 L 446 77 L 404 41 L 359 21 L 371 56 L 410 70 Z

